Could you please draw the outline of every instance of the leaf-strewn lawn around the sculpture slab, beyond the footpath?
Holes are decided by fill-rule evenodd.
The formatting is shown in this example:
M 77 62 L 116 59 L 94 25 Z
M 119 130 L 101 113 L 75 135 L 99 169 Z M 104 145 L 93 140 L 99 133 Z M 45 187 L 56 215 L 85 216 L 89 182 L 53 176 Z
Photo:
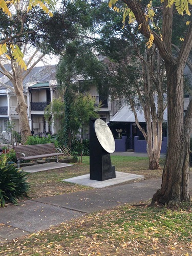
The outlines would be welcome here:
M 162 176 L 162 170 L 148 169 L 148 158 L 111 156 L 112 164 L 118 172 L 144 175 L 145 179 L 153 179 Z M 83 157 L 81 164 L 74 164 L 66 168 L 46 170 L 45 172 L 30 173 L 31 198 L 48 197 L 75 191 L 88 190 L 90 187 L 63 182 L 75 176 L 89 174 L 89 157 Z

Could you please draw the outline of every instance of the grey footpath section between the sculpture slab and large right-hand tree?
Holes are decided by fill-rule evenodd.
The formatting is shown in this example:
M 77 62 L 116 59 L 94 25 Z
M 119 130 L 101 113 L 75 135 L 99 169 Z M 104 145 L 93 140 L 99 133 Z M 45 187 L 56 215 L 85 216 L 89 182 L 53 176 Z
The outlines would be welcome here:
M 125 183 L 66 195 L 35 199 L 37 202 L 82 212 L 95 212 L 118 205 L 151 199 L 161 186 L 161 178 Z

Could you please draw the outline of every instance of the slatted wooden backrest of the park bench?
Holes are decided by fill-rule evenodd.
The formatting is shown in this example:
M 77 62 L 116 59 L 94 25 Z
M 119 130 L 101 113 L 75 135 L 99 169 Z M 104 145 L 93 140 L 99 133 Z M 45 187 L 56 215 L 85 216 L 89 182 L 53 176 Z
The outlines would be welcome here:
M 27 145 L 27 146 L 15 146 L 14 150 L 16 152 L 16 157 L 22 157 L 22 152 L 28 156 L 38 156 L 38 155 L 46 155 L 55 153 L 55 145 L 54 143 L 47 143 L 47 144 L 38 144 L 38 145 Z

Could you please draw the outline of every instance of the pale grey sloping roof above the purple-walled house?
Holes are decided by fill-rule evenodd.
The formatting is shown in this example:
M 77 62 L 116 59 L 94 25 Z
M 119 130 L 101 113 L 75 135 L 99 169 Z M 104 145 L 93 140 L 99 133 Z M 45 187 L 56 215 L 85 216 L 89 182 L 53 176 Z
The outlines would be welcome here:
M 145 122 L 143 111 L 137 110 L 136 112 L 139 122 Z M 163 119 L 167 120 L 167 110 L 164 111 Z M 131 107 L 127 105 L 122 106 L 122 108 L 111 118 L 110 122 L 135 122 L 135 116 Z

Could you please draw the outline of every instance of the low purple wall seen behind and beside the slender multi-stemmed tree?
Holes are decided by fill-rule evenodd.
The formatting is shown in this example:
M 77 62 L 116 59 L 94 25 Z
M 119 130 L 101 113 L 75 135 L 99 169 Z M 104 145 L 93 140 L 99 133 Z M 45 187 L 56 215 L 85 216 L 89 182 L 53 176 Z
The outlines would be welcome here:
M 134 137 L 134 143 L 135 143 L 135 152 L 137 153 L 146 153 L 146 141 L 145 140 L 139 140 L 138 136 Z M 166 154 L 167 149 L 167 137 L 164 137 L 162 140 L 162 146 L 161 146 L 161 154 Z

